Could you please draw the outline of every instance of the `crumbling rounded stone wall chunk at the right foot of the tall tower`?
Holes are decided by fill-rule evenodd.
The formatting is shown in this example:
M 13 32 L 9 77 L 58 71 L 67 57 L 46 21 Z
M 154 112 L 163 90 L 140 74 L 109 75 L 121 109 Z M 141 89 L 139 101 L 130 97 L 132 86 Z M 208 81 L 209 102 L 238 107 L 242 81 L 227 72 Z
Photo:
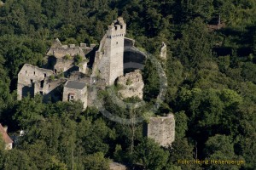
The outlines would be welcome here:
M 117 83 L 121 85 L 122 89 L 119 94 L 123 99 L 138 97 L 143 99 L 143 76 L 140 70 L 136 70 L 119 77 Z

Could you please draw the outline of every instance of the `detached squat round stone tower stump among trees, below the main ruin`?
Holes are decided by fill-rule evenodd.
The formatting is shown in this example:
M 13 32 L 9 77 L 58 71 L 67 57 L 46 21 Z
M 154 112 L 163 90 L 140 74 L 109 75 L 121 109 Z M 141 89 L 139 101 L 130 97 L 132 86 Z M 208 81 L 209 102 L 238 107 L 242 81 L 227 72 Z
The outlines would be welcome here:
M 154 139 L 162 146 L 172 144 L 175 139 L 175 119 L 173 114 L 168 116 L 150 117 L 143 127 L 144 136 Z

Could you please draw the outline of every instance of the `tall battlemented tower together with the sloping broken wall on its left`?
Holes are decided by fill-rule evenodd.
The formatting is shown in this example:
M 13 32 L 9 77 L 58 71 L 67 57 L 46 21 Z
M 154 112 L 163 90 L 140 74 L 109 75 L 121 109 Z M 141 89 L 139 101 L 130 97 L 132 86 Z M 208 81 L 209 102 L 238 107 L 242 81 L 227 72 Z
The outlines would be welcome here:
M 97 63 L 95 63 L 97 70 L 93 70 L 94 76 L 105 79 L 107 85 L 112 85 L 117 77 L 124 74 L 125 32 L 125 21 L 119 17 L 111 26 L 108 26 L 108 31 L 102 38 L 97 51 Z

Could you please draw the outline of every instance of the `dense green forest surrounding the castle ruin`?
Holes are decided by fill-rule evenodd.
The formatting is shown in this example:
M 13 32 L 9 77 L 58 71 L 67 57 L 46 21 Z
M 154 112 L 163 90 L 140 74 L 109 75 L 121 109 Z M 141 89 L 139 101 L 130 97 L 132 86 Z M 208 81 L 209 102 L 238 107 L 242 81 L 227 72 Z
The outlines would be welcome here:
M 0 141 L 0 169 L 107 170 L 110 161 L 150 170 L 256 169 L 255 0 L 3 3 L 0 122 L 8 125 L 10 135 L 20 129 L 26 135 L 13 150 L 4 150 Z M 118 16 L 124 17 L 126 37 L 135 39 L 137 47 L 159 56 L 161 42 L 166 42 L 168 87 L 155 114 L 175 116 L 176 137 L 170 147 L 143 137 L 143 122 L 136 125 L 133 135 L 131 126 L 108 120 L 96 107 L 83 111 L 80 102 L 44 103 L 39 95 L 17 100 L 22 65 L 44 65 L 44 55 L 56 37 L 64 44 L 99 44 Z M 148 105 L 154 102 L 160 84 L 152 65 L 147 61 L 143 71 Z M 108 111 L 129 116 L 107 94 L 102 92 L 102 96 Z M 178 163 L 196 159 L 245 163 Z

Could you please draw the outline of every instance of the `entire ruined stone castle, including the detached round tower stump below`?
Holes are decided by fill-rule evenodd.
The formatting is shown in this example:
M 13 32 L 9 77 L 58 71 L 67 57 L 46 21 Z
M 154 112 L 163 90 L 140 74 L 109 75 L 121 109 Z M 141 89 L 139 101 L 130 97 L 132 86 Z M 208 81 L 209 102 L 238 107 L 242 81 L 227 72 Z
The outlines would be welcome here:
M 57 38 L 52 43 L 43 68 L 25 64 L 18 74 L 18 99 L 27 95 L 43 95 L 45 101 L 80 100 L 84 109 L 94 105 L 92 87 L 106 88 L 114 83 L 121 99 L 143 99 L 143 70 L 146 54 L 138 50 L 135 41 L 125 37 L 126 24 L 119 17 L 108 26 L 99 47 L 80 43 L 63 45 Z M 88 57 L 92 54 L 93 59 Z M 166 44 L 160 49 L 160 58 L 166 59 Z M 126 74 L 125 74 L 126 73 Z M 152 117 L 146 135 L 166 146 L 174 140 L 174 117 Z M 169 130 L 168 130 L 169 129 Z M 170 130 L 171 129 L 171 130 Z

